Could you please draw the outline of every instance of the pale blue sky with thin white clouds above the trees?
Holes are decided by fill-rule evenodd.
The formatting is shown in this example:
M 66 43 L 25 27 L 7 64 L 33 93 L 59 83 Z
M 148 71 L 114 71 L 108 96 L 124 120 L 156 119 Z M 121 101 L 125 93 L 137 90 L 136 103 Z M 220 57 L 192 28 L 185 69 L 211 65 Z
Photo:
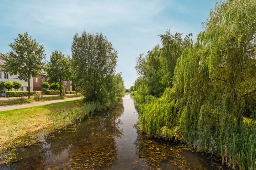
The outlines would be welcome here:
M 117 72 L 129 88 L 137 78 L 136 58 L 161 44 L 159 34 L 170 28 L 196 39 L 214 6 L 215 0 L 0 0 L 0 52 L 28 32 L 47 60 L 54 50 L 71 56 L 76 33 L 99 32 L 117 50 Z

